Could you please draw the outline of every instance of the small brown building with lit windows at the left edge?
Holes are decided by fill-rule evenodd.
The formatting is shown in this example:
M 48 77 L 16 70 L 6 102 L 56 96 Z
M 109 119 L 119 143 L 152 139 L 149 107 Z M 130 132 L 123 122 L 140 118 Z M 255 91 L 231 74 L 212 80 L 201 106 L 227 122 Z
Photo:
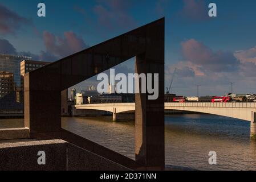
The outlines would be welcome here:
M 0 98 L 14 91 L 13 73 L 0 71 Z

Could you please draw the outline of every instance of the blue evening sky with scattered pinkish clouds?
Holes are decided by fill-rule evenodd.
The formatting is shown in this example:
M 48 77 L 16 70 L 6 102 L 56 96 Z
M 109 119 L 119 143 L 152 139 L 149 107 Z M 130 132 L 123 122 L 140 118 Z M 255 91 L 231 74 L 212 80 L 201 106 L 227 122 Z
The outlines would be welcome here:
M 46 17 L 37 15 L 38 3 Z M 217 17 L 208 16 L 216 3 Z M 256 93 L 254 0 L 0 0 L 0 53 L 56 61 L 165 17 L 165 86 L 173 93 Z M 116 67 L 134 72 L 134 59 Z M 86 89 L 95 78 L 76 85 Z

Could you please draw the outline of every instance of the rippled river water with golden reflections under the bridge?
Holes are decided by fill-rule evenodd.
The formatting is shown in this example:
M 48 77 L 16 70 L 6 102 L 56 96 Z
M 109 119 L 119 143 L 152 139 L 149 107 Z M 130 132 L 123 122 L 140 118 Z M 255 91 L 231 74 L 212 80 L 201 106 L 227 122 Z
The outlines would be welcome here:
M 23 122 L 3 120 L 0 128 Z M 112 117 L 62 118 L 62 127 L 135 159 L 134 122 L 112 122 Z M 209 151 L 216 151 L 217 165 L 208 163 Z M 166 115 L 165 164 L 200 170 L 256 170 L 250 122 L 208 114 Z

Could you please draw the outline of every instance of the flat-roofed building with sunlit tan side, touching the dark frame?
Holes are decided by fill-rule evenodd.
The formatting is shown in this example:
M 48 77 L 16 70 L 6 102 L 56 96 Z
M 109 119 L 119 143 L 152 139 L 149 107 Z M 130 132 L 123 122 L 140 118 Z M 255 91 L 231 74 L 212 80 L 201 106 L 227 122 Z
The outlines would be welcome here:
M 21 88 L 23 89 L 24 86 L 24 75 L 26 73 L 29 73 L 31 71 L 34 71 L 35 69 L 41 68 L 50 62 L 46 61 L 33 61 L 33 60 L 23 60 L 20 64 L 20 70 L 21 70 Z

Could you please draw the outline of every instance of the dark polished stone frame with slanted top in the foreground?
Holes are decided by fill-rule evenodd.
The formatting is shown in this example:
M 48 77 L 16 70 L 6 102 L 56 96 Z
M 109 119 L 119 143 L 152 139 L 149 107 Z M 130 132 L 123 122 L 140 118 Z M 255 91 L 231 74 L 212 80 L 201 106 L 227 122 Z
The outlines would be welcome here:
M 156 100 L 148 99 L 148 90 L 136 94 L 136 162 L 142 167 L 164 169 L 164 31 L 165 19 L 161 18 L 27 73 L 25 126 L 31 136 L 62 138 L 61 92 L 136 56 L 137 73 L 159 75 Z M 82 147 L 84 141 L 80 139 L 76 145 Z M 104 152 L 98 148 L 94 148 L 95 153 Z M 106 157 L 121 158 L 115 155 L 109 152 Z

